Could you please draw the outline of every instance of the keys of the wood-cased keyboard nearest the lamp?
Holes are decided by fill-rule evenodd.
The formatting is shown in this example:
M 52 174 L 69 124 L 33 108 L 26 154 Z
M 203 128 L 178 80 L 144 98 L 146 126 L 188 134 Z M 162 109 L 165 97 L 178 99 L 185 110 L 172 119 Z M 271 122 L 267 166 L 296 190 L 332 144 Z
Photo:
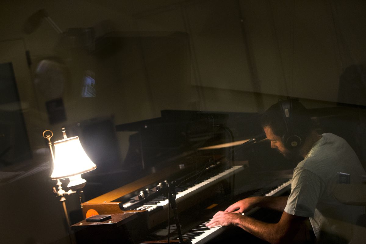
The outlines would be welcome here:
M 198 192 L 210 187 L 211 185 L 214 185 L 214 184 L 220 182 L 221 180 L 224 180 L 225 178 L 239 172 L 240 170 L 243 170 L 243 168 L 244 168 L 243 165 L 232 166 L 231 168 L 226 169 L 223 172 L 218 173 L 215 176 L 212 176 L 209 179 L 202 181 L 201 183 L 193 185 L 192 187 L 185 189 L 182 192 L 178 192 L 176 195 L 176 199 L 175 199 L 176 203 L 188 198 L 189 196 L 197 194 Z M 154 202 L 154 203 L 144 204 L 135 210 L 147 210 L 150 212 L 157 208 L 163 207 L 163 209 L 166 209 L 168 207 L 168 199 L 165 199 L 165 198 L 160 198 L 155 201 L 153 200 L 152 202 Z

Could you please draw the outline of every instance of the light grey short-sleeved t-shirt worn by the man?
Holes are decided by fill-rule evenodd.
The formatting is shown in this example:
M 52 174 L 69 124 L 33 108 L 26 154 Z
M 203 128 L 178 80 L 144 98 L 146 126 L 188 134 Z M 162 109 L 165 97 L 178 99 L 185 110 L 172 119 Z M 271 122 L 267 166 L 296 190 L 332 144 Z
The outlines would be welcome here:
M 294 169 L 285 212 L 309 217 L 315 236 L 320 230 L 351 239 L 352 225 L 365 212 L 363 206 L 340 203 L 334 196 L 338 173 L 350 174 L 350 183 L 365 175 L 350 145 L 339 136 L 325 133 Z

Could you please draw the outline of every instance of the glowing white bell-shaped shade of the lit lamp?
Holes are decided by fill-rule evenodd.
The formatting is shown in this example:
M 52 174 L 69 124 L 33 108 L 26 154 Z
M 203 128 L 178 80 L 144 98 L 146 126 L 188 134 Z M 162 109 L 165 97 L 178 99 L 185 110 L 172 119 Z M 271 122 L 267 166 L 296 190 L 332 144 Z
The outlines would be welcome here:
M 76 176 L 97 168 L 86 155 L 78 136 L 58 140 L 54 146 L 52 180 Z

